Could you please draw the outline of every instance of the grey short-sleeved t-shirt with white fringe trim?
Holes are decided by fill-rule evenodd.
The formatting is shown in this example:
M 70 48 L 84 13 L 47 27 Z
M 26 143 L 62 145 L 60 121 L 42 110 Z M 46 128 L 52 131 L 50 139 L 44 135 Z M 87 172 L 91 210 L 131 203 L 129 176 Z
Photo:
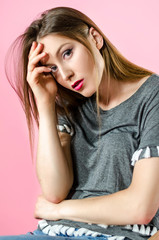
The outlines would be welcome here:
M 71 140 L 74 184 L 68 198 L 82 199 L 126 189 L 136 161 L 159 156 L 159 76 L 152 74 L 118 106 L 100 109 L 100 124 L 95 95 L 74 111 L 71 122 L 60 117 L 59 124 L 74 131 Z M 104 226 L 69 220 L 47 223 L 140 240 L 159 229 L 159 212 L 150 224 L 140 226 Z

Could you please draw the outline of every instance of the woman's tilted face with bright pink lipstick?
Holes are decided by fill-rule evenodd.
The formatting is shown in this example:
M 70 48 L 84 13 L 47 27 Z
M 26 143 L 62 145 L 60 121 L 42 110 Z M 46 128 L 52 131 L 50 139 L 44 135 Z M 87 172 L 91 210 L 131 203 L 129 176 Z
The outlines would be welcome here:
M 99 86 L 104 69 L 104 60 L 92 35 L 91 43 L 95 62 L 89 50 L 81 43 L 57 34 L 39 39 L 48 55 L 41 61 L 52 69 L 56 81 L 63 87 L 90 97 Z

